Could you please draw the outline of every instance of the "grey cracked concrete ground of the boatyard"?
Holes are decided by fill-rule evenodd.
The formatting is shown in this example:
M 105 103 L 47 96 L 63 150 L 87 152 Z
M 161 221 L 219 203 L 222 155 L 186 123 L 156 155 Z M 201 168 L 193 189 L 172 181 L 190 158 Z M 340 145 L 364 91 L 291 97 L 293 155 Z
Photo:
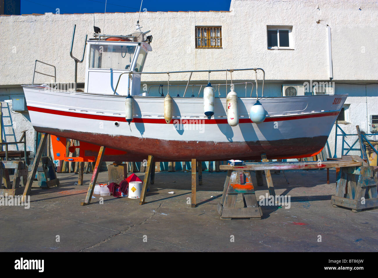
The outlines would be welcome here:
M 220 220 L 216 206 L 226 172 L 203 172 L 196 208 L 187 203 L 190 172 L 157 172 L 145 205 L 113 196 L 99 204 L 95 195 L 84 207 L 91 174 L 84 174 L 83 186 L 74 185 L 77 174 L 58 174 L 59 187 L 32 189 L 29 209 L 0 207 L 0 251 L 378 251 L 378 210 L 332 207 L 335 171 L 329 185 L 325 170 L 286 175 L 290 184 L 272 173 L 276 194 L 291 196 L 290 208 L 263 206 L 261 220 Z M 252 179 L 256 185 L 254 172 Z M 107 172 L 98 182 L 107 182 Z M 257 198 L 268 192 L 264 182 L 255 186 Z

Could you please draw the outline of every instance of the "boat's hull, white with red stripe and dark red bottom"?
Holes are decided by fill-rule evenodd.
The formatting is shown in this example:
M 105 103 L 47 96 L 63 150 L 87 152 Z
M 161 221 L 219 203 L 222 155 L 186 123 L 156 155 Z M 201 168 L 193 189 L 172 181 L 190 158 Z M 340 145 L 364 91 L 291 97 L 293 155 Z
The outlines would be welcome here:
M 126 151 L 129 161 L 307 157 L 321 151 L 347 95 L 261 98 L 267 112 L 252 123 L 256 98 L 239 98 L 239 124 L 229 126 L 226 99 L 215 98 L 208 120 L 202 98 L 173 98 L 172 121 L 164 120 L 164 98 L 133 97 L 133 121 L 125 120 L 125 96 L 23 86 L 34 128 L 56 136 Z M 125 158 L 126 159 L 126 158 Z

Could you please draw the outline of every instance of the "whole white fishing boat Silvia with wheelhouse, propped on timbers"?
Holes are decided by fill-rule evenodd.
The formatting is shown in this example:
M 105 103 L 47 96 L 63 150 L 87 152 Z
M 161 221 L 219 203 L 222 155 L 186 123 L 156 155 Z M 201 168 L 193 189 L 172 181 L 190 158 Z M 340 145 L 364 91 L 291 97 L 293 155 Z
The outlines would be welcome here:
M 214 93 L 210 78 L 204 96 L 195 97 L 186 95 L 190 77 L 183 96 L 149 96 L 140 92 L 144 75 L 263 72 L 252 67 L 144 72 L 151 40 L 141 32 L 95 34 L 86 40 L 84 92 L 23 85 L 34 129 L 124 151 L 123 161 L 143 161 L 148 155 L 155 161 L 309 157 L 324 147 L 347 98 L 240 97 L 233 86 L 222 96 Z

